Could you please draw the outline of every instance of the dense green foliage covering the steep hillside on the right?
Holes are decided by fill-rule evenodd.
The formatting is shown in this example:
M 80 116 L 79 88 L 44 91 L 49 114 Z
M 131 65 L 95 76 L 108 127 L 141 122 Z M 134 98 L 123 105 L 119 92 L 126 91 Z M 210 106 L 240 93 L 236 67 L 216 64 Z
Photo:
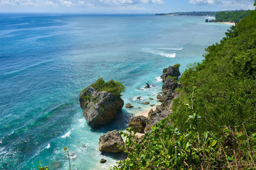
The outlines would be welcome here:
M 256 11 L 226 35 L 184 72 L 170 117 L 141 140 L 127 129 L 113 169 L 256 169 Z

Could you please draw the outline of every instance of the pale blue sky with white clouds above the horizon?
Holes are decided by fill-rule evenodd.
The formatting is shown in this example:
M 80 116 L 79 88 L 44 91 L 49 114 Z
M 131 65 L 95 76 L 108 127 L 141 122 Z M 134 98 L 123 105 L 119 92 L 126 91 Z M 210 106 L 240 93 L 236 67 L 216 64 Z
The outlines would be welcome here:
M 254 0 L 0 0 L 0 13 L 170 13 L 253 10 Z

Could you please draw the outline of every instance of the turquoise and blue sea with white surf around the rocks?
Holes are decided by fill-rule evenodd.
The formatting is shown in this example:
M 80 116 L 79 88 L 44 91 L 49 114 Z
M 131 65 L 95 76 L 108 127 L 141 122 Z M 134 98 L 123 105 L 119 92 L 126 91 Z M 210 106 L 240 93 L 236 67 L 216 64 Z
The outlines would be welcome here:
M 141 102 L 161 91 L 164 67 L 181 71 L 200 62 L 205 47 L 228 25 L 204 17 L 154 15 L 0 15 L 0 169 L 36 169 L 38 160 L 67 169 L 108 169 L 119 155 L 101 155 L 99 137 L 127 127 L 145 111 Z M 125 103 L 115 121 L 91 129 L 79 92 L 103 77 L 124 83 Z M 143 89 L 145 83 L 156 85 Z M 142 100 L 136 100 L 141 96 Z M 150 104 L 157 104 L 150 101 Z M 141 107 L 141 108 L 138 108 Z M 105 158 L 104 165 L 99 160 Z

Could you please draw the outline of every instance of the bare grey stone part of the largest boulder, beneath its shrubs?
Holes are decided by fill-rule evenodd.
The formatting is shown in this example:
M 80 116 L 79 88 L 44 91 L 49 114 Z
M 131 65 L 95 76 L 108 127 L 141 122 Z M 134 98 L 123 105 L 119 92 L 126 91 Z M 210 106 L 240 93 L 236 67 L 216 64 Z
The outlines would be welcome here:
M 113 96 L 109 92 L 98 92 L 93 87 L 83 90 L 79 101 L 87 124 L 92 127 L 108 124 L 124 106 L 120 96 Z

